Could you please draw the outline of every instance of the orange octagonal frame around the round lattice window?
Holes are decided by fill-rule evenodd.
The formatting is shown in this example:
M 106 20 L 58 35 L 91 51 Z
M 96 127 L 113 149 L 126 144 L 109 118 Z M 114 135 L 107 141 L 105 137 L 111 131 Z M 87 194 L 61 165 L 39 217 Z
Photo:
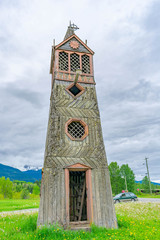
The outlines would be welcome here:
M 79 122 L 84 127 L 84 135 L 81 138 L 74 138 L 68 132 L 68 125 L 71 124 L 72 122 Z M 65 124 L 65 133 L 72 141 L 82 141 L 88 136 L 88 125 L 81 119 L 71 118 Z

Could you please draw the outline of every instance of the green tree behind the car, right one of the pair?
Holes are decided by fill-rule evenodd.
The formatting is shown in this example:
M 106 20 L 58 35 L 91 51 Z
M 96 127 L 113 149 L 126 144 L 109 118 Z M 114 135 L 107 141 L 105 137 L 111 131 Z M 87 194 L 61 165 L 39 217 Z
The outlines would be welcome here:
M 135 175 L 132 169 L 128 166 L 128 164 L 123 164 L 120 168 L 121 177 L 126 178 L 127 190 L 129 192 L 135 191 Z

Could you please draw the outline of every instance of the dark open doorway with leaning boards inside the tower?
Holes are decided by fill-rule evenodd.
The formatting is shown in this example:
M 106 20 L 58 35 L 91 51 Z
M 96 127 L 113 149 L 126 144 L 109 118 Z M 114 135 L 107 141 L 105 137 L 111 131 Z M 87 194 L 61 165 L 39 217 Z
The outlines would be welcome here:
M 70 221 L 87 220 L 86 172 L 70 171 Z

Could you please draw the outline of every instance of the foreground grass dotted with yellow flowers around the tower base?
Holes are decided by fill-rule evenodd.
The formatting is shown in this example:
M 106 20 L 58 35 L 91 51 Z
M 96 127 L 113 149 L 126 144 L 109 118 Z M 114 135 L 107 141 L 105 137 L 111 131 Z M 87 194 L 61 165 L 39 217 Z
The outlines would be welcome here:
M 115 205 L 118 229 L 92 226 L 91 232 L 64 231 L 58 226 L 36 229 L 37 214 L 0 217 L 0 239 L 12 240 L 158 240 L 160 239 L 160 204 L 130 202 Z

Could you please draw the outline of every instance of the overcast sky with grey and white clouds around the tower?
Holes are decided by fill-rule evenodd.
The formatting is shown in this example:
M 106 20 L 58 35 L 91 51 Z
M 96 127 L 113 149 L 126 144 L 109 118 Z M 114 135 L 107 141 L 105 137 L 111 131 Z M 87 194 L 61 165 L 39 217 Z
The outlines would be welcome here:
M 51 45 L 69 20 L 95 51 L 108 163 L 160 182 L 160 1 L 0 0 L 0 163 L 43 165 Z

